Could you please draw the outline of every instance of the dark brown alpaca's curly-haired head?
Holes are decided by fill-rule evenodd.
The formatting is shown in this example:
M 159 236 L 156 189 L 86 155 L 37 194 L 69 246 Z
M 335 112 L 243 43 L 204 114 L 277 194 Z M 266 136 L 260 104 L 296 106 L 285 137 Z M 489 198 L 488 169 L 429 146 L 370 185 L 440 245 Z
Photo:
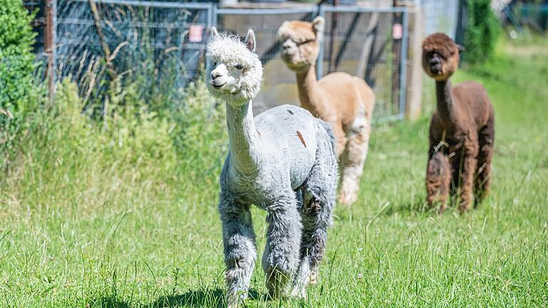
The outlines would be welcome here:
M 422 68 L 437 81 L 447 80 L 457 71 L 462 50 L 449 36 L 432 34 L 422 42 Z

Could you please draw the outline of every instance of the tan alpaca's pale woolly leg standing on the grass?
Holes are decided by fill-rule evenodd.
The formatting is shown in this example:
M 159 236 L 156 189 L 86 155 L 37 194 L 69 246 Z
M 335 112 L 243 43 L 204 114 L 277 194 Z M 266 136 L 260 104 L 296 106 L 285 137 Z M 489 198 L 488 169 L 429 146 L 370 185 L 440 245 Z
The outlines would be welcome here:
M 362 116 L 355 120 L 348 135 L 345 153 L 341 158 L 341 184 L 339 202 L 350 205 L 357 200 L 363 165 L 369 150 L 370 120 Z

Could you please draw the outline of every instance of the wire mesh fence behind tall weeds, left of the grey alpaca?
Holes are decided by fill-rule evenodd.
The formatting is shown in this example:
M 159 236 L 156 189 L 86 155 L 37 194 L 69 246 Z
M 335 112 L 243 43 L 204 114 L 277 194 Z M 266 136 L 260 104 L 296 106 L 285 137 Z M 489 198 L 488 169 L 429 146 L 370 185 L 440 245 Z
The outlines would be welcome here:
M 106 91 L 104 80 L 146 78 L 155 88 L 181 88 L 201 67 L 207 9 L 168 2 L 60 0 L 57 71 L 78 84 L 84 100 Z M 169 91 L 168 89 L 165 89 Z

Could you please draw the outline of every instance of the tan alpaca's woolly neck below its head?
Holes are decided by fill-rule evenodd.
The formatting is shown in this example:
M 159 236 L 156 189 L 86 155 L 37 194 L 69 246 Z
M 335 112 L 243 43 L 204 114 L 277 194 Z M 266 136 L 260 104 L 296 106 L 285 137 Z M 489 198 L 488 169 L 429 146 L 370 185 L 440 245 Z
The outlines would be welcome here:
M 318 77 L 315 66 L 310 66 L 308 70 L 297 73 L 297 86 L 300 106 L 310 111 L 313 116 L 320 116 L 324 106 L 318 93 Z

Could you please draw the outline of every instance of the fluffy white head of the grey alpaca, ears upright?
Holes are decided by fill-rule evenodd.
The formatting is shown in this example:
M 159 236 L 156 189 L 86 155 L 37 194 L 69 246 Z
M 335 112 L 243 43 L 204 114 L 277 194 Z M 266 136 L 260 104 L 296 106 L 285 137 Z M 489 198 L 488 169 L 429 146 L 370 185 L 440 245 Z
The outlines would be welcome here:
M 211 29 L 207 53 L 208 89 L 216 98 L 241 106 L 257 96 L 263 80 L 263 66 L 255 53 L 255 34 L 245 38 L 219 34 Z

